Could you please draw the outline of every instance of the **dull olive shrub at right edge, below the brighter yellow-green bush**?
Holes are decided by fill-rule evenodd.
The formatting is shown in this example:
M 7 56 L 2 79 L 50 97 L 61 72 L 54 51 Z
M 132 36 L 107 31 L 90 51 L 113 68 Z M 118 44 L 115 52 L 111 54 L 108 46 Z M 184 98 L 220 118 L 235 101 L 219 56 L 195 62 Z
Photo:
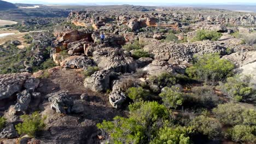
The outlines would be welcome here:
M 220 104 L 213 109 L 213 113 L 223 124 L 255 124 L 256 111 L 253 109 L 246 109 L 239 104 L 227 103 Z

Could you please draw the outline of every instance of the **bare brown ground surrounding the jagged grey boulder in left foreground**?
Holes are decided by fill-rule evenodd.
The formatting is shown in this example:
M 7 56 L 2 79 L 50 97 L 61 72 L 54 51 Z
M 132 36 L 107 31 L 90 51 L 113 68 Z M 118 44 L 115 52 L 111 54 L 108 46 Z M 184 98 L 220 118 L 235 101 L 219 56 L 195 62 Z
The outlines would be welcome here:
M 97 135 L 100 131 L 96 124 L 103 119 L 111 121 L 115 116 L 125 116 L 125 111 L 116 110 L 109 104 L 106 94 L 84 88 L 84 76 L 80 74 L 80 70 L 55 67 L 49 71 L 50 76 L 40 80 L 41 87 L 37 92 L 42 93 L 44 97 L 52 92 L 69 91 L 72 99 L 83 105 L 84 112 L 59 114 L 50 109 L 48 100 L 44 100 L 40 111 L 47 116 L 48 130 L 38 137 L 43 143 L 99 143 Z M 86 100 L 80 99 L 82 93 L 88 94 Z

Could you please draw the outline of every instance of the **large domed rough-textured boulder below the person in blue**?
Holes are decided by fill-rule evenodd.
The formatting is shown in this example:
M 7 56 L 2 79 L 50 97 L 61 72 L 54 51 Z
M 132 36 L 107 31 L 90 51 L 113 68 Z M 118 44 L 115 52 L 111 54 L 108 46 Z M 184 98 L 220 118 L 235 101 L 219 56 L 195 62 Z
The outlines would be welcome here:
M 117 48 L 106 47 L 92 53 L 95 63 L 101 69 L 110 69 L 119 73 L 135 71 L 137 63 L 132 57 L 126 56 L 124 51 Z

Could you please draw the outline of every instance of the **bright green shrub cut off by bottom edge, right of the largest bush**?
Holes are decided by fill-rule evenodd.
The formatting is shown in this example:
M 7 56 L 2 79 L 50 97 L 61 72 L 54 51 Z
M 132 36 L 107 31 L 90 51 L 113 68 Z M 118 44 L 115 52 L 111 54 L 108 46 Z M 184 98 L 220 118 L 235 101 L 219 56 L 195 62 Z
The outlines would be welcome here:
M 190 143 L 188 133 L 191 128 L 186 127 L 163 127 L 160 128 L 158 136 L 155 137 L 150 144 L 162 144 L 162 143 Z

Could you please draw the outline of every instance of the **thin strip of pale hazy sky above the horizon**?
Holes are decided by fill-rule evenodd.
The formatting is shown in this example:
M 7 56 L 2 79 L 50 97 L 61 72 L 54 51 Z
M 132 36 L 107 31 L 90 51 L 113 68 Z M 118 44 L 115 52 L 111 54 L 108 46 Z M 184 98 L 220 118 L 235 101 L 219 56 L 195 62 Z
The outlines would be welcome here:
M 166 0 L 130 0 L 130 1 L 124 1 L 124 0 L 72 0 L 72 1 L 63 1 L 63 0 L 4 0 L 12 3 L 188 3 L 188 4 L 205 4 L 205 3 L 216 3 L 216 4 L 248 4 L 248 3 L 256 3 L 256 0 L 178 0 L 178 1 L 166 1 Z

